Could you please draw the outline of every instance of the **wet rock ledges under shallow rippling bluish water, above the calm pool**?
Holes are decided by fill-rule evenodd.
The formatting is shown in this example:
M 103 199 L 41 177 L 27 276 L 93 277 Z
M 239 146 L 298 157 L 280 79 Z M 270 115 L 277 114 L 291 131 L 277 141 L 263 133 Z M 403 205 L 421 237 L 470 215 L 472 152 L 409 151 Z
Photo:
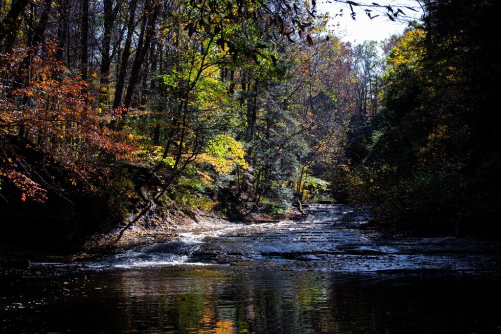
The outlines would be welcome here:
M 178 233 L 178 239 L 134 249 L 107 259 L 111 265 L 230 264 L 255 269 L 306 270 L 491 270 L 501 245 L 482 240 L 395 236 L 361 230 L 364 211 L 349 205 L 310 205 L 302 220 L 231 223 L 213 230 Z M 266 216 L 255 218 L 265 219 Z

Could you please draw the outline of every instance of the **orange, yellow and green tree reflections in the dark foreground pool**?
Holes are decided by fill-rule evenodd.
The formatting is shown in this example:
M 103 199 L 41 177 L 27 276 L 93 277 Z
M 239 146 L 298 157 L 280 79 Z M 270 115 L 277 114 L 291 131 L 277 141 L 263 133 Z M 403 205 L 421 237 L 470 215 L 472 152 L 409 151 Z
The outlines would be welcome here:
M 311 273 L 124 272 L 120 318 L 125 330 L 144 323 L 149 329 L 197 333 L 325 331 L 332 319 L 319 313 L 317 304 L 326 299 L 326 288 L 325 280 Z

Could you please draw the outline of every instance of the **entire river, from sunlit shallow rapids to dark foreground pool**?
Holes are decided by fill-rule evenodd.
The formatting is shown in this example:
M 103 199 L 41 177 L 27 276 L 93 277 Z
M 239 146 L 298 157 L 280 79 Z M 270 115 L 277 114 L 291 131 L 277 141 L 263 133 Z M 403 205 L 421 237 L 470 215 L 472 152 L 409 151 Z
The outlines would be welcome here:
M 501 332 L 501 247 L 378 232 L 346 205 L 0 274 L 0 332 Z

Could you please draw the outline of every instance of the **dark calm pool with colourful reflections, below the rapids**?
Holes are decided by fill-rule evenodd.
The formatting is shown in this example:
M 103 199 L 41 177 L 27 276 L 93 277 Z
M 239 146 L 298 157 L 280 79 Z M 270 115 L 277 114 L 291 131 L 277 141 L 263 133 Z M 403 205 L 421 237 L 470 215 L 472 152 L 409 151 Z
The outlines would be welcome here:
M 49 270 L 48 270 L 49 272 Z M 0 331 L 493 332 L 499 281 L 166 267 L 0 277 Z

